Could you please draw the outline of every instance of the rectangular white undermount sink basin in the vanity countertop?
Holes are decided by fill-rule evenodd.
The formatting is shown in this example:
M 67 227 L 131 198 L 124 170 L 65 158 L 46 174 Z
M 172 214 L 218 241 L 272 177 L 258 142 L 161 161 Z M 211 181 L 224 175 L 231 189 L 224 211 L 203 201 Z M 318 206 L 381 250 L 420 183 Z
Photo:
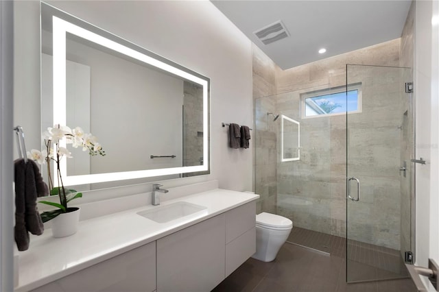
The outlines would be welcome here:
M 165 206 L 154 207 L 149 210 L 138 212 L 137 214 L 157 223 L 166 223 L 195 214 L 202 210 L 207 210 L 207 208 L 188 202 L 176 202 Z

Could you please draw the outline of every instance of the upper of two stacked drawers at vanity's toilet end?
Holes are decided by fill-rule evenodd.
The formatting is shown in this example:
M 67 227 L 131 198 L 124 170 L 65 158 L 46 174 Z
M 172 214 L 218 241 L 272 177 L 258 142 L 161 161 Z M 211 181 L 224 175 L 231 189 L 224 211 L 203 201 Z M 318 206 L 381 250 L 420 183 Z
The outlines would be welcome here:
M 256 226 L 256 202 L 226 212 L 226 243 Z

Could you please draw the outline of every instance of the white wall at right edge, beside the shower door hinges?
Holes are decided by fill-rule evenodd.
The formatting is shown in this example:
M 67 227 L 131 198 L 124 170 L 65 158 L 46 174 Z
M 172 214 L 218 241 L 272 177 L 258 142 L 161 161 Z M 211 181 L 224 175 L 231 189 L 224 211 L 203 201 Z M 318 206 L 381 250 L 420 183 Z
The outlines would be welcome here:
M 416 158 L 416 265 L 427 267 L 428 258 L 439 262 L 439 102 L 437 1 L 416 1 L 415 95 Z M 437 19 L 436 19 L 437 20 Z

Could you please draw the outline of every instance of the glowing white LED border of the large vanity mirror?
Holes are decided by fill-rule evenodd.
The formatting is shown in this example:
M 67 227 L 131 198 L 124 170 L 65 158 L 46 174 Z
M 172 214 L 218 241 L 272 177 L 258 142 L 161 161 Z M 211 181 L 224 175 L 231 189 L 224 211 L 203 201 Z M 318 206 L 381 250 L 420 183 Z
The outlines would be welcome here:
M 52 18 L 53 33 L 53 60 L 54 60 L 54 124 L 66 125 L 66 40 L 67 33 L 73 34 L 88 41 L 95 42 L 117 51 L 123 55 L 133 58 L 147 66 L 164 71 L 169 75 L 181 77 L 203 88 L 203 157 L 202 165 L 190 167 L 171 167 L 165 169 L 145 169 L 140 171 L 121 171 L 114 173 L 93 173 L 87 175 L 67 175 L 67 158 L 62 158 L 60 171 L 64 186 L 93 184 L 98 182 L 110 182 L 117 180 L 132 180 L 137 178 L 151 178 L 159 175 L 174 175 L 179 173 L 193 173 L 197 171 L 209 171 L 209 92 L 210 79 L 195 71 L 191 71 L 179 64 L 167 60 L 161 56 L 139 47 L 128 40 L 124 40 L 115 34 L 111 34 L 104 29 L 91 25 L 86 21 L 76 18 L 66 12 L 58 10 L 53 6 L 41 2 L 41 14 L 47 13 Z M 64 145 L 62 145 L 64 143 Z M 65 147 L 65 141 L 60 141 L 60 147 Z M 206 162 L 207 160 L 207 162 Z M 56 167 L 54 167 L 56 171 Z

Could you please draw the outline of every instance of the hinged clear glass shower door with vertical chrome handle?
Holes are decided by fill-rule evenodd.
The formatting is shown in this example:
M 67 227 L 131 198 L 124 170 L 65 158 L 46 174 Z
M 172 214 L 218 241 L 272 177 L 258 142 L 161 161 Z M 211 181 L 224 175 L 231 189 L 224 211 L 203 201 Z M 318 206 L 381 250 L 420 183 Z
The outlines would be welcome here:
M 407 276 L 412 250 L 412 81 L 407 68 L 346 66 L 346 281 Z M 354 101 L 346 95 L 346 102 Z M 348 106 L 349 108 L 349 106 Z

